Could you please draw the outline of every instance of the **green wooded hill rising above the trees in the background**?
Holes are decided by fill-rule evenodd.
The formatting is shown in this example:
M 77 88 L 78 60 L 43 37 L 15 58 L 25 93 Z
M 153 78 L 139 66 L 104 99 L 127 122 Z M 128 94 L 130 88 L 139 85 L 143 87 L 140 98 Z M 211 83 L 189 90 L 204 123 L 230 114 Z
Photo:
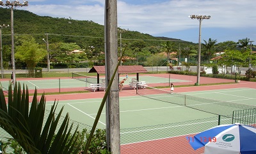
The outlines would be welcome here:
M 10 9 L 0 8 L 1 24 L 10 24 Z M 51 42 L 76 42 L 77 45 L 83 47 L 92 39 L 104 39 L 104 26 L 88 20 L 73 20 L 65 18 L 53 18 L 47 16 L 39 16 L 25 10 L 13 10 L 13 29 L 15 35 L 31 34 L 35 38 L 42 40 L 45 33 L 49 33 Z M 10 43 L 10 28 L 3 29 L 5 36 L 4 43 Z M 154 37 L 143 34 L 138 31 L 125 31 L 122 33 L 125 40 L 179 40 L 175 38 Z M 42 42 L 44 43 L 44 42 Z M 147 42 L 150 45 L 159 45 L 159 42 Z

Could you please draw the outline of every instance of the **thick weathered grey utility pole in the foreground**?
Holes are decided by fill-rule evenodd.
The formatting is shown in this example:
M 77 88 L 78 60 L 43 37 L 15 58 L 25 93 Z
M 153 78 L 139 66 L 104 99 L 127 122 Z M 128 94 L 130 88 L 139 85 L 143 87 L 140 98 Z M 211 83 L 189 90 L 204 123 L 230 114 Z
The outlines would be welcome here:
M 117 4 L 116 0 L 105 0 L 105 66 L 106 85 L 118 65 Z M 107 144 L 112 154 L 120 153 L 120 113 L 118 72 L 106 101 Z

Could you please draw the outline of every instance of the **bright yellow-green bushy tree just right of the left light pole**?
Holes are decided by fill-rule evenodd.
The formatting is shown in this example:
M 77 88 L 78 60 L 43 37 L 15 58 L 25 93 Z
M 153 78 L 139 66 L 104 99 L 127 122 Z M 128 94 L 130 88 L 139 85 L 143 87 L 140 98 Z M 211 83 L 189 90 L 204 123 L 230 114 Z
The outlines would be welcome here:
M 40 48 L 31 35 L 17 36 L 16 44 L 15 58 L 26 63 L 29 76 L 33 77 L 36 64 L 44 59 L 47 51 Z

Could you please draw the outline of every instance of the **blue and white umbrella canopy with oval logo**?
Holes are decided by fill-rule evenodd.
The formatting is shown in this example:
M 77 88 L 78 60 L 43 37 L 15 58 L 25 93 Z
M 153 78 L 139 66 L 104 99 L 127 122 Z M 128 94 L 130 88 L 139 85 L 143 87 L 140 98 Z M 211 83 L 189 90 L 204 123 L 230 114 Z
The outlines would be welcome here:
M 205 146 L 204 154 L 255 154 L 256 128 L 241 125 L 219 125 L 189 139 L 194 150 Z

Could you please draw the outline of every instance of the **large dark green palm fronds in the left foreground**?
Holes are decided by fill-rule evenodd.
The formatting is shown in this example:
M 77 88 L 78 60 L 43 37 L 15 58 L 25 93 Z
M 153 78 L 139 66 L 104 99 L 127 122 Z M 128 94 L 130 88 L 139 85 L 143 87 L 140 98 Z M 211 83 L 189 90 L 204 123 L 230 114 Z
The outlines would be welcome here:
M 21 90 L 17 82 L 13 91 L 12 84 L 9 86 L 8 102 L 0 87 L 0 100 L 0 127 L 12 135 L 26 153 L 78 153 L 82 141 L 77 142 L 78 127 L 73 135 L 72 125 L 68 129 L 68 114 L 57 130 L 63 107 L 55 117 L 57 105 L 54 102 L 44 122 L 45 96 L 42 95 L 38 102 L 35 90 L 33 101 L 29 103 L 28 87 L 25 90 L 23 85 Z

